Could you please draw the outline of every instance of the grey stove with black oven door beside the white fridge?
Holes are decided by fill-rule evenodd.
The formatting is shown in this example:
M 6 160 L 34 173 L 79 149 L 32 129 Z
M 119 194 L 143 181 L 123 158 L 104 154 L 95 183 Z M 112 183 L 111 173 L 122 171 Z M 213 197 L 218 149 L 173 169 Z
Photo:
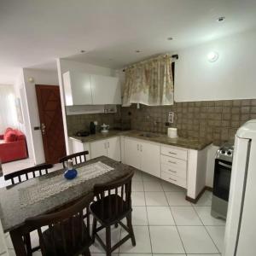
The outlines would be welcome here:
M 211 211 L 215 218 L 227 217 L 233 152 L 234 143 L 224 143 L 216 153 Z

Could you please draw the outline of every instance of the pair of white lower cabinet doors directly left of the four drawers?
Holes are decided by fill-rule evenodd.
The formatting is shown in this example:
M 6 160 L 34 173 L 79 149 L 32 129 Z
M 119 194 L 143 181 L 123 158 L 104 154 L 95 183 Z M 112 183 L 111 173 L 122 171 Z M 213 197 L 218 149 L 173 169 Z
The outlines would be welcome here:
M 125 137 L 125 164 L 160 177 L 160 146 Z

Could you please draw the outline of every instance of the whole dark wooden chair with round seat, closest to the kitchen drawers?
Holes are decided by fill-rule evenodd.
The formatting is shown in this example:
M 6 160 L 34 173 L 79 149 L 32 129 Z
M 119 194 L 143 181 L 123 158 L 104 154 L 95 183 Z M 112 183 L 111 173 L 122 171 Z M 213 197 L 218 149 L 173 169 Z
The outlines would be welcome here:
M 112 183 L 99 184 L 94 187 L 96 201 L 90 205 L 90 212 L 93 216 L 92 241 L 96 238 L 105 249 L 107 256 L 110 256 L 117 247 L 130 238 L 132 245 L 136 246 L 131 224 L 131 178 L 133 174 L 134 172 L 131 172 Z M 127 226 L 121 222 L 123 218 L 126 218 Z M 97 221 L 101 224 L 98 228 L 96 227 Z M 113 224 L 115 226 L 120 224 L 128 235 L 112 247 L 111 226 Z M 106 229 L 106 244 L 97 235 L 97 232 L 102 229 Z

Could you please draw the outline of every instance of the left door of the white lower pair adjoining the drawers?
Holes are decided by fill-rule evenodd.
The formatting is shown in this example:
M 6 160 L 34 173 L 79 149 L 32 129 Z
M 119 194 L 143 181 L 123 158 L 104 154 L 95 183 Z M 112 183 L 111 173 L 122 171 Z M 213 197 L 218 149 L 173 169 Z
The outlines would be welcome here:
M 140 143 L 125 137 L 125 164 L 137 169 L 141 168 Z

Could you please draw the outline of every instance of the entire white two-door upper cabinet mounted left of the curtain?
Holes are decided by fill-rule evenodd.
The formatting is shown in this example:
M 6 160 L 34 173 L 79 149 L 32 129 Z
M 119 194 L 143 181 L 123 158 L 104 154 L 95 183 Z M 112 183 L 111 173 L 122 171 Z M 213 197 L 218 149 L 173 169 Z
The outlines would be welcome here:
M 118 78 L 68 71 L 63 84 L 66 106 L 121 104 Z

